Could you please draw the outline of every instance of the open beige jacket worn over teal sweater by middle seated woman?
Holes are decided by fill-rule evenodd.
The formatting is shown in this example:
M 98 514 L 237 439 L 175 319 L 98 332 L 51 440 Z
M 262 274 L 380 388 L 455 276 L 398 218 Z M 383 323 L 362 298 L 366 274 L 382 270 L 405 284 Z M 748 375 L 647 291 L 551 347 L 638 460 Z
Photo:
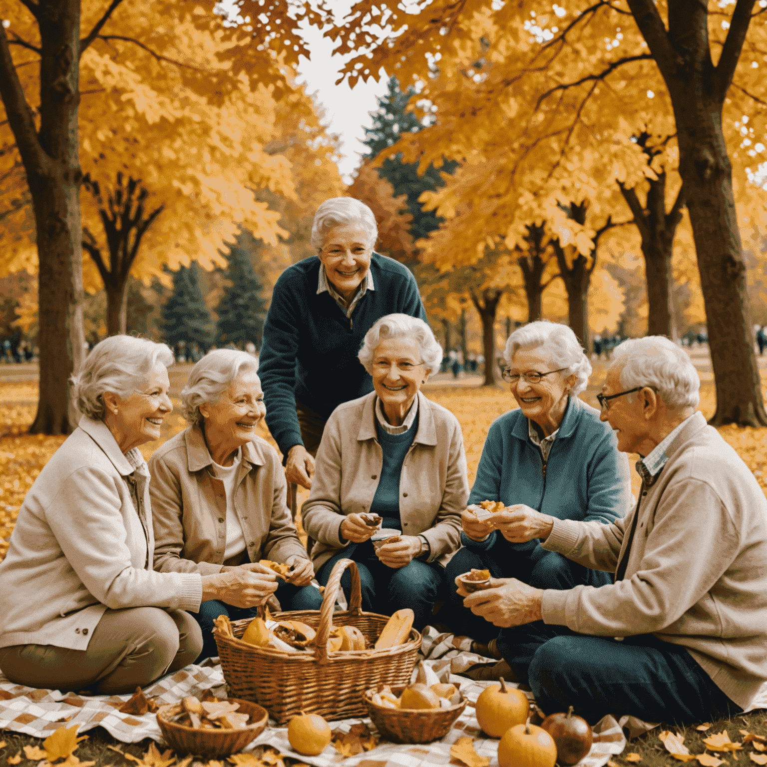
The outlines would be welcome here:
M 301 507 L 318 571 L 348 545 L 338 537 L 341 515 L 370 511 L 384 453 L 376 436 L 376 393 L 339 405 L 325 425 L 311 495 Z M 428 561 L 446 565 L 461 545 L 461 512 L 469 499 L 461 426 L 453 413 L 418 393 L 418 430 L 400 476 L 405 535 L 424 535 Z

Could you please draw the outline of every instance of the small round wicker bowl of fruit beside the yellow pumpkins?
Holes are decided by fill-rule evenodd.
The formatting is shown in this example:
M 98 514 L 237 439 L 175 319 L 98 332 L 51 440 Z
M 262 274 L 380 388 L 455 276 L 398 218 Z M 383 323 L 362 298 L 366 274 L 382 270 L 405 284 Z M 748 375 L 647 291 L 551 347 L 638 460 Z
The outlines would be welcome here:
M 399 697 L 404 689 L 405 685 L 401 685 L 392 687 L 391 691 Z M 365 691 L 367 713 L 378 732 L 395 743 L 430 743 L 444 738 L 466 708 L 466 698 L 462 695 L 460 703 L 449 709 L 387 709 L 373 703 L 377 691 L 377 687 Z

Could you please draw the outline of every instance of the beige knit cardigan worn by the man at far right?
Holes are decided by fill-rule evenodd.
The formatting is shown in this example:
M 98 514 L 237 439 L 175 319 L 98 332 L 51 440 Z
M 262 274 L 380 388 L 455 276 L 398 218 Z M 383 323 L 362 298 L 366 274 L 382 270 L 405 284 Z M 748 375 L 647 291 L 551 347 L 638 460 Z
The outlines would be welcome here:
M 543 548 L 624 580 L 546 590 L 543 620 L 581 634 L 654 634 L 690 651 L 745 710 L 767 680 L 767 499 L 748 467 L 696 413 L 635 512 L 614 524 L 557 519 Z

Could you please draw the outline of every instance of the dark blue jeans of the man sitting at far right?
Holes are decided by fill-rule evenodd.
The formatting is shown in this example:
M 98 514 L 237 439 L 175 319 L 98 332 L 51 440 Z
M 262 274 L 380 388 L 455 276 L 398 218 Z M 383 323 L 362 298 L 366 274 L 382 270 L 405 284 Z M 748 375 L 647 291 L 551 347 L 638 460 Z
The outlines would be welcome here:
M 684 647 L 652 634 L 617 641 L 536 622 L 503 629 L 498 644 L 512 668 L 526 668 L 545 713 L 574 706 L 592 724 L 612 713 L 686 725 L 742 711 Z

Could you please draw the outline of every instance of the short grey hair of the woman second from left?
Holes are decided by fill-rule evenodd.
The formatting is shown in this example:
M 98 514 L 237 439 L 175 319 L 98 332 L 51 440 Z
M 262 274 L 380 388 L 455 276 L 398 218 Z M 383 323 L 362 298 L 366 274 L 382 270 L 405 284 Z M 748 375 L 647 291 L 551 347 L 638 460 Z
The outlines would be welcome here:
M 242 372 L 258 372 L 258 360 L 246 351 L 214 349 L 192 368 L 181 390 L 181 412 L 188 423 L 202 423 L 199 406 L 218 402 L 222 393 Z

